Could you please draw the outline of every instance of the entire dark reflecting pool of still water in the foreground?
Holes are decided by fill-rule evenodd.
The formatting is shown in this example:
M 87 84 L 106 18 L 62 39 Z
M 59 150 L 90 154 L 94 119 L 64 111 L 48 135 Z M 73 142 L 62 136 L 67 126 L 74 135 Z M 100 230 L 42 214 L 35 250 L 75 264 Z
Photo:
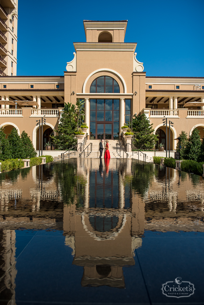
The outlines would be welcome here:
M 0 174 L 1 304 L 204 304 L 203 178 L 109 161 Z

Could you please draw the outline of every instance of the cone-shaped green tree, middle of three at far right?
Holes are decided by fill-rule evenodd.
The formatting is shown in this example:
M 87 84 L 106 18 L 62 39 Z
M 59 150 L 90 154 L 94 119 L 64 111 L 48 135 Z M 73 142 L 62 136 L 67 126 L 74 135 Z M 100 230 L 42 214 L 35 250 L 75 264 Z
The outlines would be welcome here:
M 184 149 L 184 159 L 198 161 L 201 154 L 200 131 L 194 128 Z

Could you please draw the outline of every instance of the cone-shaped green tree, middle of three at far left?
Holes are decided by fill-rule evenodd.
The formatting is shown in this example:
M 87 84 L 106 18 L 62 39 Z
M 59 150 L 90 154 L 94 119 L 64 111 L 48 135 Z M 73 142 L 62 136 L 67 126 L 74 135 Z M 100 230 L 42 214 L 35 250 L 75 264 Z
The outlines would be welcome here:
M 11 133 L 8 135 L 8 140 L 11 145 L 11 153 L 13 159 L 20 159 L 23 155 L 23 146 L 18 135 L 17 129 L 14 127 Z

